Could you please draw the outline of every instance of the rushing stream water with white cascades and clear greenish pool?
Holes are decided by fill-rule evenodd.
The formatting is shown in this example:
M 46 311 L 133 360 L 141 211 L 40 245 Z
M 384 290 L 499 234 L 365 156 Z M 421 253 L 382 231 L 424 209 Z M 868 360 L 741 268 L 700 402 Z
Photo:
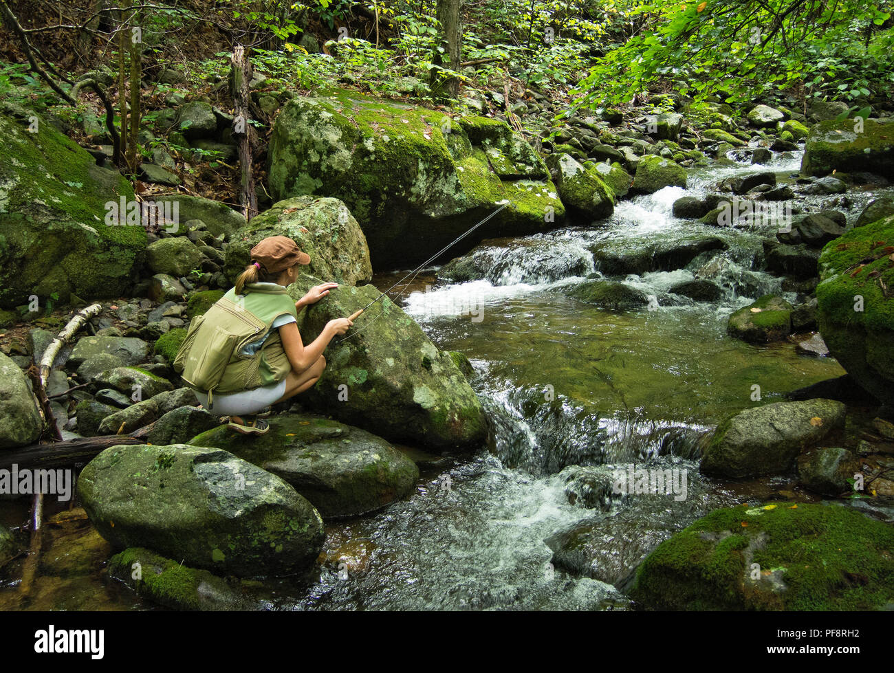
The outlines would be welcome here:
M 780 183 L 790 182 L 799 164 L 798 153 L 786 153 L 766 168 L 778 172 Z M 753 386 L 765 403 L 843 374 L 831 358 L 798 355 L 789 342 L 755 347 L 727 336 L 730 312 L 781 291 L 780 279 L 755 263 L 767 231 L 718 229 L 671 215 L 680 196 L 704 194 L 721 178 L 761 168 L 699 169 L 690 172 L 688 189 L 621 201 L 604 223 L 502 241 L 487 251 L 487 280 L 434 282 L 436 270 L 417 279 L 401 298 L 404 308 L 439 348 L 470 359 L 472 384 L 493 418 L 490 446 L 473 456 L 429 457 L 404 501 L 327 526 L 319 581 L 309 588 L 289 579 L 265 582 L 266 604 L 627 609 L 613 585 L 553 568 L 544 539 L 595 521 L 597 530 L 603 526 L 605 557 L 634 564 L 643 549 L 708 510 L 747 500 L 740 486 L 699 475 L 696 457 L 698 442 L 722 417 L 757 403 Z M 870 195 L 848 197 L 852 219 Z M 819 209 L 821 201 L 810 206 Z M 719 236 L 729 248 L 704 252 L 685 269 L 615 279 L 654 297 L 648 309 L 611 312 L 561 293 L 599 272 L 587 248 L 636 249 L 695 235 Z M 716 271 L 719 301 L 667 300 L 671 285 L 693 279 L 704 265 Z M 397 277 L 375 282 L 384 288 Z M 633 463 L 687 469 L 687 499 L 630 496 L 605 512 L 569 504 L 562 468 Z M 148 607 L 103 585 L 98 574 L 92 582 L 78 607 Z

